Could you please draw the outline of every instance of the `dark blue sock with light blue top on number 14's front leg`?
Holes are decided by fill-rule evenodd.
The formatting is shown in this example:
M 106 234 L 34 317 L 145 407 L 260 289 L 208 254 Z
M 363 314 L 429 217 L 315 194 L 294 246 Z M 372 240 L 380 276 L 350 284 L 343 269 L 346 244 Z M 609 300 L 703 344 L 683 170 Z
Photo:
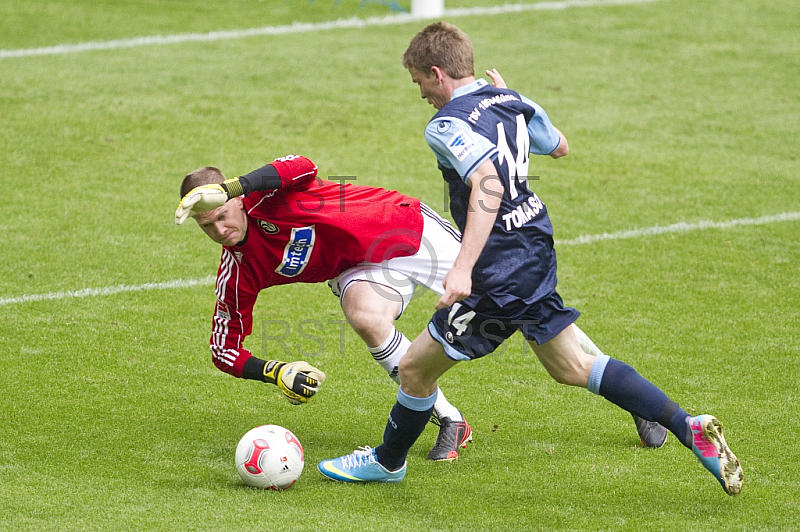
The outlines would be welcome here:
M 397 402 L 383 431 L 383 444 L 375 448 L 375 457 L 383 467 L 389 471 L 403 467 L 408 450 L 431 418 L 438 393 L 437 390 L 430 397 L 419 398 L 406 394 L 402 388 L 397 390 Z

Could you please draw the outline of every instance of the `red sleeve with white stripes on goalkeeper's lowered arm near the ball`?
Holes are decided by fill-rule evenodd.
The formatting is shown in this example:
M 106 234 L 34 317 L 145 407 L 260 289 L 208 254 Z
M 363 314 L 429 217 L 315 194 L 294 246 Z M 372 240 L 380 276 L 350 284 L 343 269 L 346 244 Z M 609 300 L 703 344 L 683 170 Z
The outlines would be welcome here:
M 211 360 L 214 365 L 234 377 L 242 376 L 242 367 L 252 355 L 242 347 L 244 339 L 252 332 L 253 306 L 258 292 L 248 279 L 230 250 L 222 249 L 222 259 L 217 271 L 217 306 L 211 330 Z

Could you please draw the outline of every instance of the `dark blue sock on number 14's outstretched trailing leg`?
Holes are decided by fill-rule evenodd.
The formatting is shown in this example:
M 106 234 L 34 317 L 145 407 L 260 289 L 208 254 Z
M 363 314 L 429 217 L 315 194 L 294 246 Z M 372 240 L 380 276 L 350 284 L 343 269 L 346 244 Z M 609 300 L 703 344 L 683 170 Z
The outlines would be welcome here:
M 606 355 L 598 356 L 589 374 L 588 388 L 632 414 L 657 421 L 692 448 L 692 434 L 686 423 L 689 414 L 628 364 Z

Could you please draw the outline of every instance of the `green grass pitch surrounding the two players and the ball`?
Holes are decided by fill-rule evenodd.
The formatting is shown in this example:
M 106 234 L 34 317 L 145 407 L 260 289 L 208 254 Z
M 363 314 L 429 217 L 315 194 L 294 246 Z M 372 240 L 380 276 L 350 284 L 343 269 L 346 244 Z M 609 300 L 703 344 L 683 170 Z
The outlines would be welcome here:
M 0 0 L 0 50 L 383 16 L 390 4 Z M 557 385 L 519 335 L 441 381 L 475 430 L 457 462 L 425 460 L 430 426 L 401 484 L 337 485 L 317 462 L 377 445 L 396 387 L 355 333 L 340 338 L 326 286 L 264 293 L 248 343 L 328 374 L 303 407 L 214 368 L 208 282 L 53 295 L 215 273 L 217 246 L 173 224 L 180 180 L 199 166 L 233 176 L 302 153 L 322 176 L 446 214 L 422 137 L 433 109 L 399 59 L 416 21 L 0 53 L 1 530 L 800 528 L 800 4 L 660 0 L 448 20 L 472 37 L 479 72 L 498 68 L 569 139 L 567 158 L 532 160 L 531 186 L 579 324 L 687 411 L 725 423 L 742 495 L 726 496 L 672 437 L 642 448 L 627 413 Z M 720 225 L 644 231 L 704 221 Z M 418 299 L 398 328 L 415 336 L 433 303 Z M 308 319 L 321 325 L 304 335 Z M 278 320 L 288 352 L 268 341 Z M 234 469 L 237 441 L 264 423 L 305 447 L 289 491 L 246 488 Z

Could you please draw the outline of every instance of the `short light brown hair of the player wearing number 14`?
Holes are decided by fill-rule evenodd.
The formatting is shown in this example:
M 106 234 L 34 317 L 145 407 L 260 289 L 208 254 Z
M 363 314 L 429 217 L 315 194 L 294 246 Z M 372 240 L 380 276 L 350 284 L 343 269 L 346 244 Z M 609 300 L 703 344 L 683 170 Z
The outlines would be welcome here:
M 417 33 L 403 54 L 403 66 L 430 76 L 438 66 L 453 79 L 475 75 L 472 42 L 466 33 L 448 22 L 434 22 Z

